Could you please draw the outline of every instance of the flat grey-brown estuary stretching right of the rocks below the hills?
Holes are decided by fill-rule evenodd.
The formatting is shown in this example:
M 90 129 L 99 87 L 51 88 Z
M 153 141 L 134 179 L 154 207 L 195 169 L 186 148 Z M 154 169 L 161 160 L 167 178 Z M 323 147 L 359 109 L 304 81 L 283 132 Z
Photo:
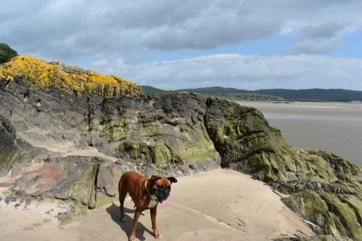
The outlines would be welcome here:
M 291 147 L 323 149 L 362 167 L 362 103 L 237 103 L 259 109 Z

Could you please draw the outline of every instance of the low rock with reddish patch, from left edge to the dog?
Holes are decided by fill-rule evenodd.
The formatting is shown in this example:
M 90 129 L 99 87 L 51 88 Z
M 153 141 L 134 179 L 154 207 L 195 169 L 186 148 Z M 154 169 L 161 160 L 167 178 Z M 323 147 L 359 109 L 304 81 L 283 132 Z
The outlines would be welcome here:
M 16 138 L 10 122 L 0 116 L 0 187 L 10 198 L 51 197 L 70 206 L 61 216 L 71 220 L 117 198 L 121 167 L 97 157 L 61 157 Z M 16 198 L 15 198 L 16 200 Z

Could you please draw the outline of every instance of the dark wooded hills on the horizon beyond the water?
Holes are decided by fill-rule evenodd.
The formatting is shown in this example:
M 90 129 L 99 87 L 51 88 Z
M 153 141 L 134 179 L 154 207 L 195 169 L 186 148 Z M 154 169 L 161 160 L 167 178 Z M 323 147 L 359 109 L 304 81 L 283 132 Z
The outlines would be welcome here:
M 237 90 L 224 87 L 205 87 L 197 89 L 182 89 L 179 92 L 197 92 L 201 94 L 265 94 L 278 96 L 285 100 L 318 100 L 318 101 L 362 101 L 362 91 L 343 89 L 308 89 L 308 90 Z

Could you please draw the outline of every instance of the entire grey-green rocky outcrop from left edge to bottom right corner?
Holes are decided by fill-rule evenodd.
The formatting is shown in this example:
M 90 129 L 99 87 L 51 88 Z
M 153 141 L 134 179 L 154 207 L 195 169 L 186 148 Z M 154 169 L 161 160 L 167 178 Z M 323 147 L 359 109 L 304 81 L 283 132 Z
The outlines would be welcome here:
M 283 193 L 316 234 L 362 240 L 361 168 L 326 151 L 289 147 L 257 109 L 189 93 L 110 97 L 109 87 L 92 92 L 76 78 L 83 89 L 66 81 L 34 87 L 34 77 L 9 78 L 11 65 L 1 67 L 0 185 L 12 196 L 66 202 L 69 220 L 116 200 L 125 171 L 183 176 L 221 165 Z M 55 148 L 95 148 L 117 162 L 63 156 Z

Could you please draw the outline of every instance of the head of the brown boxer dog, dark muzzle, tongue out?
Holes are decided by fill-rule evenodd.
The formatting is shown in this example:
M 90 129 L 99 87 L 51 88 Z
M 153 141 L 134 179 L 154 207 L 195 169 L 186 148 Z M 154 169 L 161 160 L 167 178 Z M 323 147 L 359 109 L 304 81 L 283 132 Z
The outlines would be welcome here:
M 177 179 L 174 177 L 162 178 L 161 176 L 151 176 L 151 187 L 154 195 L 159 199 L 159 202 L 167 200 L 170 196 L 171 185 L 173 182 L 177 182 Z

